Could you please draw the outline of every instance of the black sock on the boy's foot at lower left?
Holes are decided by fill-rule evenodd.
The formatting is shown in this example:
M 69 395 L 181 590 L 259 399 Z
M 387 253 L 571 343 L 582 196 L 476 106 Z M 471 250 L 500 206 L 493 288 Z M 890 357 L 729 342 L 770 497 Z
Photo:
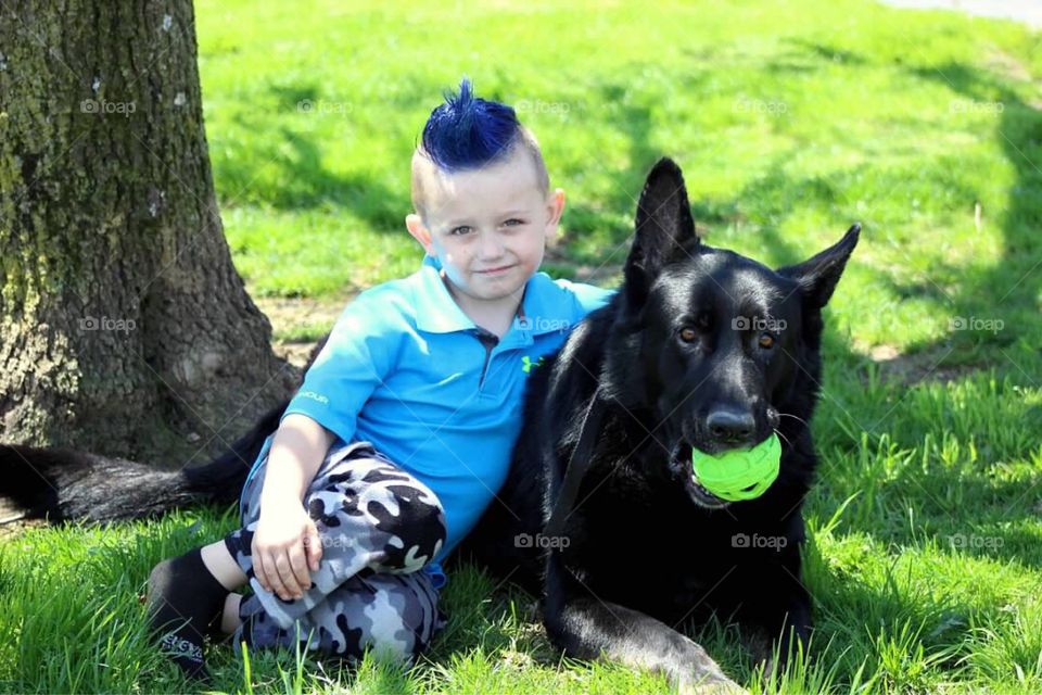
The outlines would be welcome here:
M 189 678 L 209 678 L 203 641 L 207 634 L 220 634 L 228 593 L 206 569 L 200 548 L 163 560 L 149 576 L 151 636 Z

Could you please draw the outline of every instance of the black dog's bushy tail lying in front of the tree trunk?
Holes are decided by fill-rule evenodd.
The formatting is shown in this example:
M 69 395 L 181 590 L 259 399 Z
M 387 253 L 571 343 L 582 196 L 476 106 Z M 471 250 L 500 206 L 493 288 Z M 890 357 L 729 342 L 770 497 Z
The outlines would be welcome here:
M 212 463 L 178 471 L 82 452 L 0 445 L 0 498 L 14 507 L 13 516 L 0 523 L 21 518 L 114 521 L 199 503 L 229 504 L 239 498 L 288 404 L 270 410 Z

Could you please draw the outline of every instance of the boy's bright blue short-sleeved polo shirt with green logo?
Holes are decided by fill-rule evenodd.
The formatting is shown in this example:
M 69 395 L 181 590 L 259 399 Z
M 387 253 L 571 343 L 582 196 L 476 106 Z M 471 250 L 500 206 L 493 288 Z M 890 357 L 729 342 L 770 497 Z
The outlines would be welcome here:
M 437 260 L 424 256 L 418 271 L 344 308 L 282 417 L 300 413 L 342 442 L 371 442 L 437 495 L 448 532 L 424 571 L 440 587 L 441 560 L 506 480 L 529 375 L 612 293 L 536 273 L 497 340 L 453 300 Z

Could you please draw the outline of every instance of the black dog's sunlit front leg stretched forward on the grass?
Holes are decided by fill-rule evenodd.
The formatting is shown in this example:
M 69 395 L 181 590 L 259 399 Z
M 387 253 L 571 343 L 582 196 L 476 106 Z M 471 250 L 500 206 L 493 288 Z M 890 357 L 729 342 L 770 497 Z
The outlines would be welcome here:
M 543 621 L 566 655 L 607 658 L 665 674 L 682 693 L 744 692 L 691 639 L 643 612 L 592 595 L 550 553 Z

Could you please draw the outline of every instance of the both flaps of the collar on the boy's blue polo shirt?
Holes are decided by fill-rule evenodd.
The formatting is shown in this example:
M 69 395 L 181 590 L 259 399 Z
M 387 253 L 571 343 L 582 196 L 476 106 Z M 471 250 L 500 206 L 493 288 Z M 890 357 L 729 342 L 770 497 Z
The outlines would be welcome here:
M 545 273 L 536 273 L 524 286 L 524 294 L 518 305 L 518 316 L 510 332 L 541 334 L 568 329 L 571 306 L 567 296 Z M 430 333 L 449 333 L 478 328 L 445 287 L 441 276 L 441 263 L 434 256 L 424 255 L 416 274 L 414 285 L 416 327 Z

